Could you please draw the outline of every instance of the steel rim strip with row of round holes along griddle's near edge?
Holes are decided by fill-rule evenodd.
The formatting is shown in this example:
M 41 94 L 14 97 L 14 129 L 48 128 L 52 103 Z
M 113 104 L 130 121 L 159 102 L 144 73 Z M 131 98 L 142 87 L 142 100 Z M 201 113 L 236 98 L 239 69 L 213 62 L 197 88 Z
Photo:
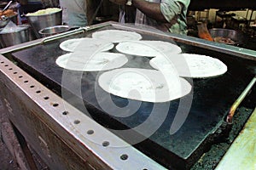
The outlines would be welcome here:
M 81 158 L 84 157 L 83 150 L 86 150 L 113 169 L 166 169 L 69 105 L 2 54 L 0 54 L 0 71 L 44 111 L 45 115 L 38 114 L 38 118 L 43 120 Z M 30 88 L 31 85 L 33 88 Z M 49 99 L 45 100 L 45 96 Z M 62 114 L 64 111 L 68 114 Z M 91 135 L 86 133 L 89 131 L 94 133 Z M 67 139 L 67 135 L 63 135 L 63 132 L 68 132 L 68 135 L 72 136 L 76 142 L 75 146 L 70 139 Z M 103 146 L 104 144 L 107 146 Z M 128 158 L 123 160 L 122 156 L 128 156 Z

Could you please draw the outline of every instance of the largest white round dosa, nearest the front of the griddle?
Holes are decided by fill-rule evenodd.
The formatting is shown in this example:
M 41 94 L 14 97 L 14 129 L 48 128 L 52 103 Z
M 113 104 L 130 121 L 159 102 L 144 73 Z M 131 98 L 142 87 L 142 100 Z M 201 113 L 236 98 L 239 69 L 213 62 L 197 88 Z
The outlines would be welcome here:
M 178 99 L 191 91 L 189 82 L 174 72 L 165 76 L 160 71 L 137 68 L 104 72 L 98 82 L 109 94 L 154 103 Z

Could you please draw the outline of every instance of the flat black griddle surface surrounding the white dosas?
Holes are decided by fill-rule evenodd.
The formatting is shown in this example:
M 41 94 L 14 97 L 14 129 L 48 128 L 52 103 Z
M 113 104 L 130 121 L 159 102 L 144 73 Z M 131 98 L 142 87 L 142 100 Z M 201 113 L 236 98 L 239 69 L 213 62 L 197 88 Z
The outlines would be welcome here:
M 113 29 L 113 27 L 106 27 Z M 105 29 L 106 29 L 105 28 Z M 86 37 L 90 37 L 90 33 Z M 163 40 L 160 37 L 148 36 L 142 34 L 143 39 Z M 73 36 L 74 37 L 74 36 Z M 26 70 L 39 82 L 44 83 L 50 89 L 53 89 L 57 94 L 61 95 L 61 86 L 67 89 L 68 101 L 73 105 L 77 105 L 78 94 L 76 88 L 78 82 L 81 82 L 81 94 L 84 99 L 84 104 L 87 106 L 90 116 L 96 122 L 100 122 L 105 127 L 114 129 L 124 129 L 127 127 L 137 127 L 143 123 L 153 111 L 157 108 L 159 117 L 165 115 L 165 109 L 168 107 L 168 113 L 165 121 L 160 128 L 142 144 L 137 144 L 138 148 L 144 153 L 150 155 L 161 163 L 169 164 L 169 167 L 176 165 L 177 161 L 180 164 L 177 167 L 183 167 L 184 161 L 193 157 L 196 150 L 201 150 L 207 144 L 209 134 L 220 125 L 224 120 L 230 106 L 238 98 L 247 83 L 253 78 L 253 73 L 243 65 L 241 60 L 236 57 L 219 54 L 203 48 L 178 44 L 183 53 L 206 54 L 214 58 L 218 58 L 228 66 L 228 72 L 223 76 L 207 78 L 207 79 L 188 79 L 193 82 L 193 93 L 166 103 L 141 103 L 135 114 L 128 117 L 110 116 L 105 111 L 102 111 L 99 103 L 108 98 L 108 93 L 99 88 L 96 79 L 102 72 L 84 72 L 65 71 L 70 83 L 62 83 L 63 69 L 55 65 L 55 59 L 61 54 L 67 54 L 59 48 L 59 44 L 68 38 L 62 38 L 45 45 L 38 45 L 33 48 L 28 48 L 13 54 L 14 59 L 18 62 L 21 68 Z M 78 36 L 77 36 L 78 37 Z M 81 35 L 79 36 L 81 37 Z M 114 49 L 112 52 L 116 52 Z M 124 67 L 138 67 L 152 69 L 148 64 L 149 58 L 128 56 L 129 62 Z M 96 90 L 95 90 L 96 89 Z M 100 100 L 96 99 L 95 92 L 100 92 Z M 185 109 L 189 107 L 184 100 L 190 99 L 192 96 L 192 105 L 189 111 L 189 116 L 183 123 L 183 126 L 177 133 L 170 134 L 170 127 L 176 116 L 178 107 Z M 128 104 L 127 99 L 122 99 L 117 96 L 111 96 L 116 105 L 124 107 Z M 189 103 L 189 102 L 188 102 Z M 113 108 L 108 108 L 109 110 Z M 127 110 L 123 109 L 124 112 Z M 127 111 L 128 112 L 128 111 Z M 116 122 L 117 121 L 117 122 Z M 154 122 L 154 120 L 152 120 Z M 120 122 L 120 123 L 119 123 Z M 125 125 L 125 126 L 123 126 Z M 204 142 L 205 141 L 205 142 Z M 176 159 L 176 160 L 174 160 Z M 191 158 L 193 160 L 193 158 Z

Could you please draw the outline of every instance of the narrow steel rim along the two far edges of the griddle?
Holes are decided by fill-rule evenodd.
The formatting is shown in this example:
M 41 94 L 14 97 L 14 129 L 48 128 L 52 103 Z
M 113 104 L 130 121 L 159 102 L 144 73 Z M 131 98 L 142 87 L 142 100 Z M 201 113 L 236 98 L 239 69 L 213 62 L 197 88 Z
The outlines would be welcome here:
M 23 48 L 29 48 L 32 46 L 36 46 L 38 44 L 44 44 L 46 42 L 51 42 L 56 39 L 59 39 L 61 37 L 68 37 L 74 34 L 86 32 L 86 31 L 94 31 L 96 29 L 100 29 L 106 26 L 113 26 L 117 29 L 122 29 L 122 30 L 127 30 L 127 31 L 137 31 L 137 32 L 142 32 L 148 35 L 154 35 L 158 37 L 165 37 L 165 38 L 170 38 L 174 40 L 175 42 L 182 42 L 191 46 L 199 47 L 199 48 L 206 48 L 210 49 L 213 51 L 217 51 L 220 53 L 224 54 L 230 54 L 234 55 L 236 57 L 240 57 L 243 59 L 251 59 L 251 60 L 256 60 L 256 51 L 247 49 L 247 48 L 239 48 L 231 45 L 225 45 L 224 43 L 218 43 L 218 42 L 210 42 L 201 38 L 197 37 L 189 37 L 185 35 L 178 35 L 178 34 L 172 34 L 170 32 L 163 32 L 163 31 L 155 31 L 155 29 L 146 29 L 145 27 L 140 28 L 139 26 L 134 26 L 131 24 L 119 24 L 118 22 L 114 21 L 108 21 L 104 22 L 101 24 L 97 25 L 92 25 L 92 26 L 86 26 L 86 27 L 81 27 L 79 29 L 73 30 L 73 31 L 67 31 L 52 37 L 46 37 L 46 38 L 41 38 L 38 40 L 34 40 L 32 42 L 25 42 L 19 45 L 15 45 L 9 48 L 3 48 L 0 49 L 0 54 L 7 54 L 11 52 L 15 52 L 18 50 L 21 50 Z M 195 52 L 196 53 L 196 52 Z

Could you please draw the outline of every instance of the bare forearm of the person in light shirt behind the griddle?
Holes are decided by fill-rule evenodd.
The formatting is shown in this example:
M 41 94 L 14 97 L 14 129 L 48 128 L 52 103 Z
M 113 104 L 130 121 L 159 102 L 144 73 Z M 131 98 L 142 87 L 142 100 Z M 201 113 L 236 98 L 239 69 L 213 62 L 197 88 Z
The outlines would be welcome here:
M 148 17 L 160 22 L 167 22 L 166 18 L 160 11 L 160 3 L 149 3 L 144 0 L 132 0 L 132 4 Z

